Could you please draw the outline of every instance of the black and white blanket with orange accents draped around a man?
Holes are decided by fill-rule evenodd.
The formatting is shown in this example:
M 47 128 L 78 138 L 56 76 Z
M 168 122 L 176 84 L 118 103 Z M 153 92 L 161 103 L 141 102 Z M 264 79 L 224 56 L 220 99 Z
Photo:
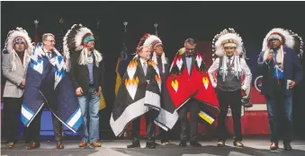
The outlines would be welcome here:
M 148 61 L 145 75 L 139 57 L 130 61 L 123 75 L 118 95 L 114 101 L 110 125 L 113 133 L 120 135 L 125 126 L 148 111 L 154 111 L 155 123 L 164 129 L 172 128 L 178 117 L 160 105 L 161 77 L 157 65 Z

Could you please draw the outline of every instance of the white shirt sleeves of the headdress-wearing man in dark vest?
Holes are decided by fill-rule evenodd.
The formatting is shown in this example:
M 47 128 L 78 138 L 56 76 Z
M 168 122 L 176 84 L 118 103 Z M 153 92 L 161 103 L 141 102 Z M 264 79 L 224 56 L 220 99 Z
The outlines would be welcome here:
M 230 60 L 230 64 L 232 64 L 232 61 L 233 61 L 233 59 Z M 216 86 L 217 86 L 217 78 L 214 77 L 213 74 L 219 70 L 219 67 L 220 67 L 220 58 L 216 58 L 216 60 L 213 62 L 213 65 L 211 65 L 211 67 L 209 68 L 209 71 L 208 71 L 208 74 L 211 79 L 211 85 L 214 88 L 216 88 Z M 241 87 L 244 91 L 246 91 L 247 87 L 250 87 L 250 85 L 251 85 L 252 74 L 251 74 L 251 70 L 247 66 L 247 63 L 244 58 L 240 58 L 240 67 L 241 67 L 241 70 L 246 74 L 245 82 Z

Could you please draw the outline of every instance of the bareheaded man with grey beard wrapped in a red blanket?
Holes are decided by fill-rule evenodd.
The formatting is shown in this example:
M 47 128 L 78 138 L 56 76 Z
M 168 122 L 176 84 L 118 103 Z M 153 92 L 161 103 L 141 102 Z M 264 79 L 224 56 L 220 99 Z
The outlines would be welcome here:
M 193 147 L 201 147 L 198 143 L 198 119 L 202 117 L 212 124 L 219 113 L 216 95 L 211 87 L 202 55 L 196 51 L 194 39 L 186 39 L 184 48 L 176 54 L 166 79 L 166 88 L 178 111 L 181 123 L 179 146 L 185 147 L 188 127 L 187 112 L 191 113 L 191 138 Z M 198 117 L 199 116 L 199 117 Z

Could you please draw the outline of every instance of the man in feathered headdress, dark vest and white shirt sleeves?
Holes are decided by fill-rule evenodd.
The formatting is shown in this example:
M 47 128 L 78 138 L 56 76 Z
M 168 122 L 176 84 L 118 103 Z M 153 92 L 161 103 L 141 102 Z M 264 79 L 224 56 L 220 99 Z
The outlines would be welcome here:
M 234 120 L 235 139 L 233 143 L 235 146 L 244 147 L 244 144 L 241 143 L 241 90 L 246 91 L 251 87 L 252 74 L 246 60 L 241 57 L 243 42 L 234 29 L 222 30 L 215 38 L 214 48 L 218 58 L 215 59 L 208 73 L 220 103 L 218 125 L 220 139 L 217 146 L 223 147 L 228 137 L 226 117 L 228 106 L 230 106 Z M 242 73 L 246 75 L 244 84 L 241 81 Z

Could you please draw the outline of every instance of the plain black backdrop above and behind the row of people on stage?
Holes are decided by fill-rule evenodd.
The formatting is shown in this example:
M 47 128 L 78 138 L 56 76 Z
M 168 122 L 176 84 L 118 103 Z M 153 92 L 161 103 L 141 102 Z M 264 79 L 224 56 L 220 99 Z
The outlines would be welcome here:
M 4 48 L 7 32 L 17 26 L 27 30 L 33 40 L 36 19 L 40 39 L 45 32 L 58 34 L 60 18 L 65 19 L 65 33 L 74 23 L 82 23 L 93 30 L 94 36 L 100 36 L 99 50 L 106 65 L 107 108 L 104 111 L 109 118 L 114 100 L 114 70 L 123 38 L 122 22 L 129 22 L 126 39 L 130 53 L 144 33 L 155 32 L 153 24 L 157 22 L 158 36 L 170 60 L 183 47 L 184 39 L 211 41 L 220 30 L 234 28 L 244 40 L 247 56 L 251 58 L 249 64 L 256 65 L 256 56 L 269 30 L 291 29 L 305 38 L 304 8 L 304 2 L 1 2 L 1 48 Z M 97 30 L 98 21 L 101 23 Z M 304 60 L 302 64 L 304 66 Z M 302 81 L 293 106 L 298 136 L 304 136 L 305 132 L 305 98 L 301 96 L 304 88 Z

